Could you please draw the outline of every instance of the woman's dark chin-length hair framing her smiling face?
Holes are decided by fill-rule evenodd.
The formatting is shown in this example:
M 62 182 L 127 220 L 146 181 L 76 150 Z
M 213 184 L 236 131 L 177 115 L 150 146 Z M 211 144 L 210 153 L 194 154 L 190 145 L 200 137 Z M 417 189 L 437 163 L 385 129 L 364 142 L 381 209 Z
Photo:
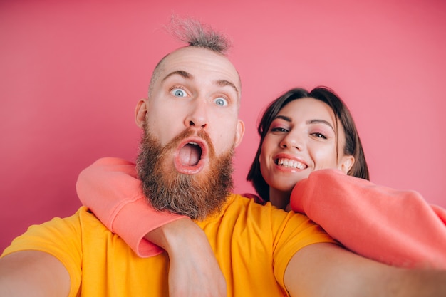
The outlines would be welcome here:
M 279 98 L 274 100 L 266 108 L 263 116 L 261 117 L 257 131 L 260 135 L 260 143 L 257 148 L 256 157 L 252 162 L 251 169 L 248 172 L 247 180 L 251 182 L 256 189 L 256 192 L 265 201 L 269 201 L 269 185 L 266 184 L 264 177 L 261 175 L 260 171 L 260 152 L 261 146 L 263 145 L 266 134 L 269 131 L 269 127 L 276 118 L 279 111 L 284 108 L 285 105 L 291 101 L 298 100 L 301 98 L 314 98 L 316 100 L 321 100 L 330 106 L 331 110 L 335 115 L 336 120 L 336 145 L 338 143 L 338 120 L 342 125 L 342 128 L 346 135 L 346 145 L 344 147 L 343 153 L 345 155 L 352 155 L 355 158 L 353 167 L 348 171 L 348 175 L 353 177 L 360 177 L 362 179 L 369 179 L 367 162 L 365 162 L 365 155 L 363 152 L 363 146 L 361 145 L 361 140 L 359 139 L 358 131 L 356 130 L 355 122 L 351 116 L 343 100 L 339 98 L 333 90 L 326 87 L 317 87 L 308 92 L 304 88 L 294 88 L 288 92 L 281 95 Z

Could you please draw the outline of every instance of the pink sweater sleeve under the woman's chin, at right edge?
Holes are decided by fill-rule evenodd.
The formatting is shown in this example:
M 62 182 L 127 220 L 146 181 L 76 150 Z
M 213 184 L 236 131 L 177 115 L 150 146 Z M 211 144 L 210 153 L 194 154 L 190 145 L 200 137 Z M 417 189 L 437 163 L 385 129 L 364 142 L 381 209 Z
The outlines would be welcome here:
M 296 184 L 291 208 L 362 256 L 394 266 L 446 269 L 446 211 L 418 192 L 319 170 Z

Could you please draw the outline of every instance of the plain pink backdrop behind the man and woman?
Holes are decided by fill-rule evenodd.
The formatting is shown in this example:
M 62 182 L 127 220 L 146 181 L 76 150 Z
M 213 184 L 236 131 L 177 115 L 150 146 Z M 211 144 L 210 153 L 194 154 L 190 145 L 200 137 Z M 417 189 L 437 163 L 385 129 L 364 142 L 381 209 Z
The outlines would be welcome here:
M 0 2 L 0 250 L 28 225 L 75 212 L 90 163 L 135 159 L 135 104 L 181 45 L 161 28 L 172 11 L 234 40 L 247 126 L 236 192 L 252 191 L 244 179 L 266 104 L 328 85 L 351 108 L 372 181 L 446 207 L 446 1 L 150 2 Z

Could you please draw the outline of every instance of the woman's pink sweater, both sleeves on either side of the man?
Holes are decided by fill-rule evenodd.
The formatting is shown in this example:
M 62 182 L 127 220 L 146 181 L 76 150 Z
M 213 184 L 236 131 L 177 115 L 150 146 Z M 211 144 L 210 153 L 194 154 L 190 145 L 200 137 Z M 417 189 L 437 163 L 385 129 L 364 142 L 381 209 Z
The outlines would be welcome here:
M 147 204 L 135 164 L 102 158 L 81 172 L 76 189 L 111 231 L 138 256 L 159 254 L 143 237 L 184 218 Z M 319 170 L 299 182 L 291 207 L 358 254 L 386 264 L 446 269 L 446 211 L 427 204 L 417 192 L 377 186 L 338 170 Z

